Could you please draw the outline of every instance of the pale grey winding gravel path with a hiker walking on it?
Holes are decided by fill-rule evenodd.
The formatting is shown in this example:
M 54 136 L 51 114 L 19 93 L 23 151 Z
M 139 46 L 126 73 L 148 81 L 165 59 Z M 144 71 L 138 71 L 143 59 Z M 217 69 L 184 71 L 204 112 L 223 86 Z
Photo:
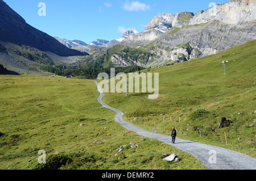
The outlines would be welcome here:
M 153 138 L 159 141 L 163 141 L 166 144 L 175 146 L 177 149 L 183 150 L 186 153 L 192 154 L 194 157 L 198 158 L 201 163 L 208 170 L 255 170 L 256 169 L 256 159 L 249 157 L 248 155 L 238 153 L 236 151 L 227 150 L 224 148 L 219 148 L 217 146 L 210 146 L 205 144 L 200 144 L 198 142 L 192 142 L 187 140 L 181 140 L 176 138 L 176 143 L 171 144 L 171 136 L 166 136 L 163 134 L 156 134 L 152 132 L 145 131 L 141 128 L 136 127 L 133 124 L 123 121 L 123 113 L 113 107 L 108 106 L 102 102 L 101 98 L 104 96 L 103 91 L 97 82 L 95 82 L 100 92 L 100 96 L 97 98 L 98 102 L 102 104 L 103 107 L 108 108 L 117 113 L 115 116 L 115 121 L 121 124 L 124 128 L 134 131 L 137 134 Z

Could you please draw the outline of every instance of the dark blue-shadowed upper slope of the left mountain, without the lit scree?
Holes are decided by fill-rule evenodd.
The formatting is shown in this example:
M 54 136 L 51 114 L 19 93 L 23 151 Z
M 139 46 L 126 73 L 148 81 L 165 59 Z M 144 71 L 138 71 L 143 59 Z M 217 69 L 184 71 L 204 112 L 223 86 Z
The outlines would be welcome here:
M 3 42 L 28 45 L 64 57 L 85 55 L 77 50 L 67 49 L 52 36 L 30 26 L 2 0 L 0 0 L 0 16 L 0 40 Z

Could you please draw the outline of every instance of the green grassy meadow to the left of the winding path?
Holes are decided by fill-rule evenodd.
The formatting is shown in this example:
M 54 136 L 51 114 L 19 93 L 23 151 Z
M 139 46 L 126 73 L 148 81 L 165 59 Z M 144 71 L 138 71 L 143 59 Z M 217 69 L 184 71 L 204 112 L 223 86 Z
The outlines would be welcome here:
M 0 169 L 42 169 L 39 150 L 60 169 L 204 169 L 191 155 L 122 128 L 97 102 L 93 81 L 23 74 L 0 75 L 0 85 Z M 172 153 L 182 161 L 162 160 Z

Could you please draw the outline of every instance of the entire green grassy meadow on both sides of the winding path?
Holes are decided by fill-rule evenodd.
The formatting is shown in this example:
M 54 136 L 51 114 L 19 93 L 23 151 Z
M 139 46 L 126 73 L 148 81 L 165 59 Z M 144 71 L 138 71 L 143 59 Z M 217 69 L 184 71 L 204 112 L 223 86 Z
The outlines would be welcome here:
M 256 158 L 255 52 L 256 40 L 196 60 L 144 69 L 159 73 L 158 99 L 148 99 L 147 93 L 105 93 L 102 100 L 147 131 L 169 135 L 175 126 L 178 138 Z M 192 155 L 121 127 L 115 113 L 97 102 L 92 80 L 0 75 L 0 85 L 1 170 L 205 169 Z M 232 124 L 218 128 L 222 117 Z M 125 149 L 118 152 L 121 145 Z M 39 150 L 46 151 L 46 164 L 38 163 Z M 163 154 L 172 153 L 181 161 L 162 160 Z

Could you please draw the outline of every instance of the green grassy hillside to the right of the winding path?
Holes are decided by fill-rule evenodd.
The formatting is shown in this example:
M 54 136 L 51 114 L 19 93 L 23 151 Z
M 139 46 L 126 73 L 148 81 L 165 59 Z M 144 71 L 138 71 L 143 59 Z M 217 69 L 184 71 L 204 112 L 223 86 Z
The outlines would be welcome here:
M 127 121 L 148 131 L 170 134 L 170 128 L 175 126 L 179 138 L 221 146 L 256 158 L 255 52 L 256 40 L 211 56 L 151 69 L 159 73 L 158 100 L 133 93 L 127 97 L 106 94 L 105 100 L 125 112 Z M 228 61 L 226 75 L 222 61 Z M 198 115 L 197 109 L 209 113 Z M 165 115 L 160 115 L 162 113 Z M 134 117 L 138 119 L 134 121 Z M 221 117 L 232 120 L 233 124 L 218 129 Z M 254 127 L 249 127 L 252 123 Z M 201 137 L 197 128 L 202 131 Z

